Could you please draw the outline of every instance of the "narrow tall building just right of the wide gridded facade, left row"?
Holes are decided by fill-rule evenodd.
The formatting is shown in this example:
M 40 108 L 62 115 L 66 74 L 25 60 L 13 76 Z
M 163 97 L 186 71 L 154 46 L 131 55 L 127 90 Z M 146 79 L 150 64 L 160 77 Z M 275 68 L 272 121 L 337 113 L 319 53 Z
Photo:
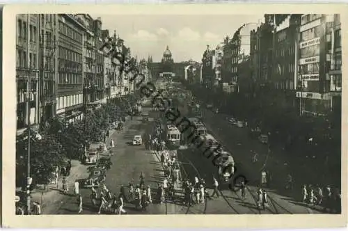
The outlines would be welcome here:
M 84 104 L 95 102 L 95 34 L 94 20 L 88 14 L 75 15 L 78 22 L 84 25 L 83 58 L 84 58 Z

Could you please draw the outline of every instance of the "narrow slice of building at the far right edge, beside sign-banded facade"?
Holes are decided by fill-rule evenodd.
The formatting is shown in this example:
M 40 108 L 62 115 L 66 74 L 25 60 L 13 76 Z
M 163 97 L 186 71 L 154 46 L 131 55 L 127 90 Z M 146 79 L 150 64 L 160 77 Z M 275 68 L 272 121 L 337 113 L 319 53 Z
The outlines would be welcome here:
M 333 29 L 331 32 L 331 68 L 330 68 L 330 90 L 331 110 L 341 114 L 342 105 L 342 40 L 340 15 L 334 15 Z

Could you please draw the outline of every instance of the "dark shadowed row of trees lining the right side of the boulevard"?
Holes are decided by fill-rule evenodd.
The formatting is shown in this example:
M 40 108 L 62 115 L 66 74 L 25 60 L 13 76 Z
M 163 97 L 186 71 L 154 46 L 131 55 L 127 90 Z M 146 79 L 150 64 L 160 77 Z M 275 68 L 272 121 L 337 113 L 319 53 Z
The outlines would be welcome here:
M 303 146 L 313 138 L 317 147 L 326 152 L 340 153 L 341 120 L 339 113 L 326 116 L 299 116 L 293 104 L 281 99 L 272 90 L 263 90 L 253 95 L 244 93 L 227 94 L 222 90 L 209 90 L 198 84 L 187 87 L 203 102 L 219 106 L 222 113 L 240 120 L 247 120 L 250 127 L 260 127 L 277 143 L 290 147 Z

